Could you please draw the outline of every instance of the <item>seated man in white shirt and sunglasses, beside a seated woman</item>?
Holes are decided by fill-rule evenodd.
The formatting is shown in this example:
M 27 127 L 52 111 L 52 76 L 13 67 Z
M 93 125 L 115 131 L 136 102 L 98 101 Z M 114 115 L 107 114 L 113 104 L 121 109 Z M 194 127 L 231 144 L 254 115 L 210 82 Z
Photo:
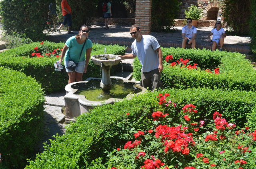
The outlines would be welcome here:
M 187 25 L 181 29 L 182 34 L 182 48 L 186 47 L 186 44 L 191 44 L 191 48 L 196 47 L 196 27 L 192 26 L 192 19 L 187 19 Z

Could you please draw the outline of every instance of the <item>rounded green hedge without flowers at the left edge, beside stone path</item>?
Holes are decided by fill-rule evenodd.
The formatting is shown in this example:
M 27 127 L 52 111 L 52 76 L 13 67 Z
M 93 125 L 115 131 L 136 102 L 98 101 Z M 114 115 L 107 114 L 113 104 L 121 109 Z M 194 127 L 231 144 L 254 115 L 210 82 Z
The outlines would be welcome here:
M 24 73 L 0 67 L 0 168 L 21 168 L 42 136 L 41 85 Z

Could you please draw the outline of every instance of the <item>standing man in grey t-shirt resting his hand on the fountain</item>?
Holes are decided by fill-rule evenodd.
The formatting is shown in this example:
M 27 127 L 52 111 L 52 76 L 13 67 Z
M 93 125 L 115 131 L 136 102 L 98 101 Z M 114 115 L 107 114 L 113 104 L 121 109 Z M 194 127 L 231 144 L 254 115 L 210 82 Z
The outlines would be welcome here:
M 132 53 L 120 56 L 122 59 L 134 59 L 136 56 L 142 65 L 141 85 L 149 90 L 162 88 L 160 80 L 163 70 L 162 50 L 158 41 L 151 35 L 141 35 L 138 25 L 130 27 L 130 34 L 135 39 Z

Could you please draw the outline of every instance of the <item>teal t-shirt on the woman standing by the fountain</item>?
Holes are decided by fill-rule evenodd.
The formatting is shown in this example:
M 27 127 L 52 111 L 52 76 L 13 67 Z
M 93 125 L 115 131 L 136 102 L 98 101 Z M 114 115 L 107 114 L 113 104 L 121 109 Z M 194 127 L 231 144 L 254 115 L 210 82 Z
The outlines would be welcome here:
M 72 37 L 68 38 L 65 45 L 68 47 L 68 50 L 65 53 L 64 60 L 70 61 L 70 59 L 71 59 L 74 62 L 78 62 L 84 43 L 82 43 L 82 44 L 77 43 L 76 36 L 72 36 Z M 87 39 L 79 62 L 85 60 L 86 49 L 90 49 L 91 47 L 92 47 L 92 41 L 90 41 L 90 39 Z

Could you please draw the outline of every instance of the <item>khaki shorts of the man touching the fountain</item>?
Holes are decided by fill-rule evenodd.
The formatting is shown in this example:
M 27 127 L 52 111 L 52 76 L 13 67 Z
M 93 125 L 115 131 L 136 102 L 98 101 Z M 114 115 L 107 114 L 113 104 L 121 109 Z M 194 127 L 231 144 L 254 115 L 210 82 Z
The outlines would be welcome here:
M 158 69 L 154 69 L 150 72 L 141 71 L 140 83 L 142 87 L 149 88 L 151 91 L 158 88 L 162 89 L 161 73 L 159 73 Z

